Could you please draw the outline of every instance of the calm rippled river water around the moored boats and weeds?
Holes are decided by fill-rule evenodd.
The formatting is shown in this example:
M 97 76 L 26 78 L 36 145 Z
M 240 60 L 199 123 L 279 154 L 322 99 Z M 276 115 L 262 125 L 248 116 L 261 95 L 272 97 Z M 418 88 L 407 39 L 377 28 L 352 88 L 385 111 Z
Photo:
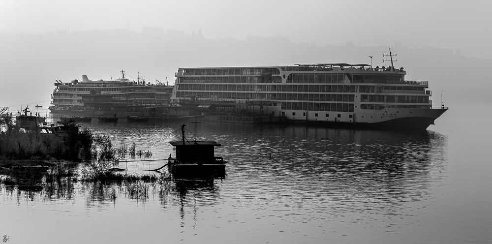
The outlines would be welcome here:
M 418 133 L 202 122 L 198 140 L 222 144 L 225 179 L 151 185 L 148 197 L 116 185 L 2 186 L 0 235 L 10 243 L 491 243 L 491 115 L 490 105 L 451 105 Z M 154 159 L 175 155 L 168 142 L 179 140 L 179 125 L 83 124 Z M 132 174 L 162 165 L 120 163 Z

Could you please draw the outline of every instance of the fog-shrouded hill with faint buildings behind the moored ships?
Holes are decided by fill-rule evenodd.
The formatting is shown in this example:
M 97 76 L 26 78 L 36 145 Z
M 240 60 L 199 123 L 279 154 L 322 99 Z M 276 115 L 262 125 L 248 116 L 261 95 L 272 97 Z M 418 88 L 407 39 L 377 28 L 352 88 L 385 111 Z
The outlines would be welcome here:
M 455 55 L 451 49 L 392 47 L 395 66 L 407 80 L 430 81 L 432 99 L 444 93 L 446 104 L 490 101 L 492 60 Z M 388 47 L 316 46 L 296 44 L 286 37 L 248 36 L 245 40 L 207 39 L 200 33 L 144 29 L 92 30 L 71 34 L 0 33 L 0 106 L 50 100 L 55 80 L 116 79 L 123 69 L 131 79 L 138 72 L 147 81 L 174 83 L 179 67 L 294 65 L 294 63 L 383 63 Z M 22 94 L 22 95 L 21 95 Z M 438 95 L 439 94 L 439 95 Z

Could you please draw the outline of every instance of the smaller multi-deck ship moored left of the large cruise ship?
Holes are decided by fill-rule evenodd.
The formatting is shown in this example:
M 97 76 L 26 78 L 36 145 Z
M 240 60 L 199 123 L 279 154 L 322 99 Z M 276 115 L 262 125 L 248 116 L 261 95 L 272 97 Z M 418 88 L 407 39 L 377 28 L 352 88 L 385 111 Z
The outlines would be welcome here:
M 130 81 L 124 77 L 116 80 L 92 81 L 86 75 L 82 81 L 70 83 L 57 81 L 52 94 L 50 110 L 62 114 L 142 116 L 144 108 L 167 107 L 173 87 L 146 83 L 143 78 Z

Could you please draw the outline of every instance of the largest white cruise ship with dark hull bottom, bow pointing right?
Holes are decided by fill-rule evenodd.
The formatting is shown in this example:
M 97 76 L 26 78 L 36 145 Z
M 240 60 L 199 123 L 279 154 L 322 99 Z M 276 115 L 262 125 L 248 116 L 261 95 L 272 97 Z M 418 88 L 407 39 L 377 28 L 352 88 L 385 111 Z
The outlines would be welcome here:
M 250 105 L 248 111 L 288 122 L 426 129 L 448 108 L 432 107 L 429 82 L 407 81 L 405 75 L 393 64 L 179 68 L 171 98 L 215 111 Z

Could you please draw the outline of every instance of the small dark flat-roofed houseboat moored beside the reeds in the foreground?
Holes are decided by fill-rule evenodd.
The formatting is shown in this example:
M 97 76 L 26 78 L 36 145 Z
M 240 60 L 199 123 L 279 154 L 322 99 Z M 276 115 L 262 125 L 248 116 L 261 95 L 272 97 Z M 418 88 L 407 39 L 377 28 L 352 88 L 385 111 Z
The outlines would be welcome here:
M 175 179 L 211 179 L 225 177 L 225 164 L 222 157 L 214 155 L 214 148 L 221 145 L 212 141 L 188 142 L 184 138 L 184 124 L 181 126 L 183 139 L 169 142 L 176 147 L 176 158 L 167 163 L 169 172 Z M 195 133 L 196 134 L 196 133 Z

